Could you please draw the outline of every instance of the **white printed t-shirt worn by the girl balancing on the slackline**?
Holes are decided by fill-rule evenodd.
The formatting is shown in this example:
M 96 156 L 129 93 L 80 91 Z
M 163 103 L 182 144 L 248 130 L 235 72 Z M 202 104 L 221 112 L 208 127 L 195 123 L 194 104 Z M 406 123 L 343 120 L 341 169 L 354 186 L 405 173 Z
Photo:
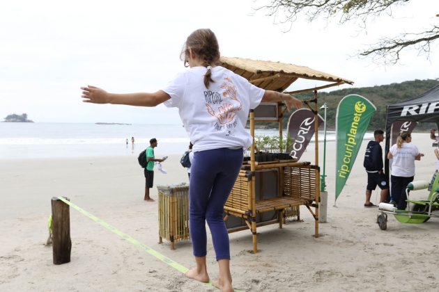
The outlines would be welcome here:
M 252 136 L 245 130 L 249 110 L 261 102 L 265 90 L 224 67 L 212 68 L 209 89 L 203 79 L 206 67 L 192 67 L 176 76 L 167 87 L 167 107 L 178 108 L 183 125 L 194 144 L 194 152 L 247 148 Z

